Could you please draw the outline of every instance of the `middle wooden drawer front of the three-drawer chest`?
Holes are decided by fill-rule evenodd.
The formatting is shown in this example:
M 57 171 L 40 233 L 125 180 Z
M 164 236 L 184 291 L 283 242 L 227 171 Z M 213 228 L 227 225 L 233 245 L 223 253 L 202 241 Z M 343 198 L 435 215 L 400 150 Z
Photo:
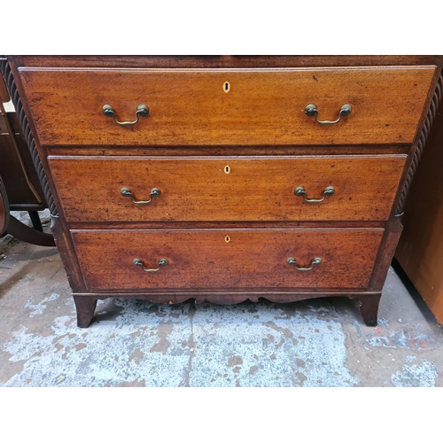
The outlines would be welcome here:
M 49 158 L 67 221 L 384 221 L 405 161 Z M 124 188 L 132 197 L 121 195 Z

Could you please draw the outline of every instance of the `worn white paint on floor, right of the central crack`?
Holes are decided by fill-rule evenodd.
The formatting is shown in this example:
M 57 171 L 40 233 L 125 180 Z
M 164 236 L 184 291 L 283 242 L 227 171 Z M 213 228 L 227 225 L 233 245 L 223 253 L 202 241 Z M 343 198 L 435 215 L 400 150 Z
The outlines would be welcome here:
M 277 306 L 247 309 L 211 305 L 194 317 L 191 386 L 353 386 L 346 367 L 341 324 L 294 312 L 280 319 Z M 217 329 L 213 328 L 218 323 Z M 241 364 L 229 366 L 229 359 Z M 231 360 L 232 361 L 232 360 Z

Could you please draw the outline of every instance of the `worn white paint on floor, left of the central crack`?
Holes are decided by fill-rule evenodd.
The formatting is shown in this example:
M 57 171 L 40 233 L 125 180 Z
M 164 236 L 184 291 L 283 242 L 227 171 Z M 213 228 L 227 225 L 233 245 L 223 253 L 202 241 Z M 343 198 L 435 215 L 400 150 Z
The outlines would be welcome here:
M 50 328 L 53 335 L 30 334 L 22 326 L 2 347 L 10 361 L 25 361 L 24 368 L 0 386 L 113 386 L 136 379 L 147 386 L 180 385 L 190 354 L 189 305 L 159 305 L 159 316 L 147 312 L 152 304 L 135 301 L 116 300 L 127 307 L 124 315 L 101 321 L 98 315 L 99 323 L 87 330 L 76 325 L 72 299 L 73 315 L 57 317 Z M 162 323 L 174 325 L 167 336 L 171 346 L 166 355 L 150 353 L 161 339 Z M 135 352 L 137 358 L 131 359 Z

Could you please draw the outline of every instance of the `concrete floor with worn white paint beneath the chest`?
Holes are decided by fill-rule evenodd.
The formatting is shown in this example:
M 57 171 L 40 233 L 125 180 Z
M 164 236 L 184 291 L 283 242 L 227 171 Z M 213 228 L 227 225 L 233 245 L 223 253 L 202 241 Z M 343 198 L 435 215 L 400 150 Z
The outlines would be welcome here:
M 354 301 L 99 301 L 88 329 L 56 248 L 0 239 L 0 386 L 443 386 L 443 328 L 391 268 Z

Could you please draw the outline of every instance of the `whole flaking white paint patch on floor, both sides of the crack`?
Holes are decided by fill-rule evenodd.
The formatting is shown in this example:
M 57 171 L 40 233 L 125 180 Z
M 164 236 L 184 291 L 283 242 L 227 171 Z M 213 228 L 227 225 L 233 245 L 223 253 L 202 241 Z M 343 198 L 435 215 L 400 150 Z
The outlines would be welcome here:
M 12 333 L 3 349 L 24 365 L 0 386 L 358 385 L 341 324 L 306 310 L 204 304 L 193 313 L 189 304 L 115 299 L 124 312 L 102 311 L 85 330 L 71 303 L 52 335 L 29 333 L 27 323 Z

